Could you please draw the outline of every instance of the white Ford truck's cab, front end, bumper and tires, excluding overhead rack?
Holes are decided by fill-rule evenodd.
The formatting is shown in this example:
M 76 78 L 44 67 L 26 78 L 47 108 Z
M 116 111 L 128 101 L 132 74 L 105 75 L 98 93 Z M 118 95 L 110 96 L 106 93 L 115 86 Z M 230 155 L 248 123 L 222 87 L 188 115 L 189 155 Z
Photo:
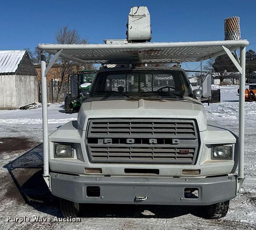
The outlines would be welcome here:
M 221 218 L 237 194 L 238 138 L 207 121 L 185 72 L 102 68 L 75 121 L 49 136 L 52 194 L 81 203 L 199 205 Z

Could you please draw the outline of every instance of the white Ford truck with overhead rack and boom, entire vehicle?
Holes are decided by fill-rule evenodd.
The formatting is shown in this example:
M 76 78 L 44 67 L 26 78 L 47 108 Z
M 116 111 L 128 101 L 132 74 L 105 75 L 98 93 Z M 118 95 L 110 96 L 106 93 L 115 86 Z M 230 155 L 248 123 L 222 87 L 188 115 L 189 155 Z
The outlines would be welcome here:
M 78 216 L 82 203 L 196 205 L 202 206 L 207 218 L 227 214 L 229 201 L 244 180 L 245 47 L 249 43 L 240 40 L 237 28 L 239 33 L 225 28 L 230 38 L 225 41 L 151 43 L 150 16 L 142 6 L 130 10 L 126 40 L 38 45 L 43 176 L 52 194 L 61 198 L 64 216 Z M 54 54 L 47 68 L 46 52 Z M 240 72 L 239 140 L 206 119 L 201 100 L 210 95 L 210 78 L 202 83 L 208 90 L 192 90 L 182 69 L 155 67 L 222 54 Z M 48 136 L 46 74 L 58 57 L 120 67 L 99 70 L 77 120 Z M 72 79 L 71 93 L 77 98 L 78 82 Z

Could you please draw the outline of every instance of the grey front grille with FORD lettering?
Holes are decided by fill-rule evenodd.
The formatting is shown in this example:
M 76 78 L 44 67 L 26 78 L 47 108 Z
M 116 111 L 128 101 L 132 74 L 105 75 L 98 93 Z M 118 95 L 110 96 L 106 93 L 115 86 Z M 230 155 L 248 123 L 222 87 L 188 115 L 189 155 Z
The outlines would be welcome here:
M 92 163 L 195 164 L 199 138 L 188 119 L 106 118 L 88 121 Z

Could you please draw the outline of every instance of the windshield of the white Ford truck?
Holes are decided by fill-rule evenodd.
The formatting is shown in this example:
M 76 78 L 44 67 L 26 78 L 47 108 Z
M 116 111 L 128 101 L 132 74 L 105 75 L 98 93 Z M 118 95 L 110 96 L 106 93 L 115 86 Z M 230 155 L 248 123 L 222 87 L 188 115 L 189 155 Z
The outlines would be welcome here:
M 129 70 L 100 72 L 90 97 L 181 98 L 192 94 L 178 70 Z

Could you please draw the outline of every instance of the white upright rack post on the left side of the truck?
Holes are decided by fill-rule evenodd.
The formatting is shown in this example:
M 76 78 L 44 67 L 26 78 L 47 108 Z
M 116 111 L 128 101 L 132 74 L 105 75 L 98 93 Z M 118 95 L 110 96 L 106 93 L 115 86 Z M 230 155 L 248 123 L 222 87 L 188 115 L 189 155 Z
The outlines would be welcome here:
M 43 117 L 43 148 L 44 148 L 44 180 L 50 189 L 49 175 L 49 150 L 48 150 L 48 114 L 47 114 L 47 80 L 46 80 L 46 56 L 41 50 L 41 82 L 42 82 L 42 117 Z

